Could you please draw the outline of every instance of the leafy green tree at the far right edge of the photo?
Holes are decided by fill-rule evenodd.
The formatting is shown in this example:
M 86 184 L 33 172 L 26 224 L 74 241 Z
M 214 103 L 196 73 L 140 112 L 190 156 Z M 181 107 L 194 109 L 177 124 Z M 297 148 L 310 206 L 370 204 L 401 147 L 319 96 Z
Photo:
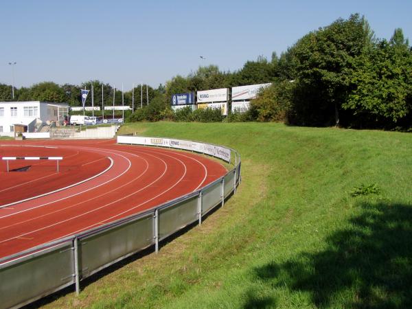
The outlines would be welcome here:
M 393 127 L 411 117 L 411 72 L 412 53 L 402 30 L 358 57 L 350 78 L 354 90 L 343 104 L 354 112 L 352 126 Z

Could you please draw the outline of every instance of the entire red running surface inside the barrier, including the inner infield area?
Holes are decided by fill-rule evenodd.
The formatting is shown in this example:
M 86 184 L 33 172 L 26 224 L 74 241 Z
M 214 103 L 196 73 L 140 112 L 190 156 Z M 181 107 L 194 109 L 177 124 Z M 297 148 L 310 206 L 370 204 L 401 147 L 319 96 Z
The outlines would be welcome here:
M 62 154 L 63 160 L 58 174 L 54 161 L 32 163 L 27 172 L 10 173 L 2 163 L 0 258 L 137 214 L 198 190 L 226 173 L 220 163 L 200 155 L 118 145 L 114 140 L 1 144 L 1 157 L 14 157 L 15 151 L 25 157 L 49 157 L 51 151 L 53 156 Z M 16 168 L 27 162 L 13 164 Z M 61 187 L 67 188 L 1 207 Z

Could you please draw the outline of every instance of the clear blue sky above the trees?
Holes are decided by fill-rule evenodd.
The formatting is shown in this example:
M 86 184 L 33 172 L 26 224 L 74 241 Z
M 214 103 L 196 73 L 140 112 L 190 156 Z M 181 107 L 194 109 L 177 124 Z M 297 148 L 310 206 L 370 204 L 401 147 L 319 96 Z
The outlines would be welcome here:
M 412 1 L 2 1 L 0 83 L 101 80 L 152 87 L 199 65 L 235 71 L 339 17 L 365 15 L 378 38 L 412 38 Z M 202 60 L 199 56 L 205 56 Z

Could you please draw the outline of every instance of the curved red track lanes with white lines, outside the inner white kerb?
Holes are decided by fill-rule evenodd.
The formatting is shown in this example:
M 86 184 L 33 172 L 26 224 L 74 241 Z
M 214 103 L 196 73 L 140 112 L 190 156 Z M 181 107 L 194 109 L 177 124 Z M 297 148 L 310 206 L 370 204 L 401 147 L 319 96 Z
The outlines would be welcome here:
M 53 144 L 73 148 L 69 141 Z M 0 209 L 0 258 L 150 209 L 226 172 L 188 152 L 87 141 L 76 141 L 76 149 L 111 157 L 113 167 L 81 185 Z

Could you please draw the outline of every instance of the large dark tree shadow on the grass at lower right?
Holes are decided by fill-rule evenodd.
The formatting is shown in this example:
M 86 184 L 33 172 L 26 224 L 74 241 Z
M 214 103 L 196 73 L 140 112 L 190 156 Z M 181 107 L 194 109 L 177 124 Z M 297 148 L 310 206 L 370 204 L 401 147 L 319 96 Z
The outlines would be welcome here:
M 308 293 L 321 308 L 412 308 L 412 205 L 361 207 L 323 251 L 266 264 L 255 275 L 271 287 Z M 259 300 L 248 296 L 246 307 Z

